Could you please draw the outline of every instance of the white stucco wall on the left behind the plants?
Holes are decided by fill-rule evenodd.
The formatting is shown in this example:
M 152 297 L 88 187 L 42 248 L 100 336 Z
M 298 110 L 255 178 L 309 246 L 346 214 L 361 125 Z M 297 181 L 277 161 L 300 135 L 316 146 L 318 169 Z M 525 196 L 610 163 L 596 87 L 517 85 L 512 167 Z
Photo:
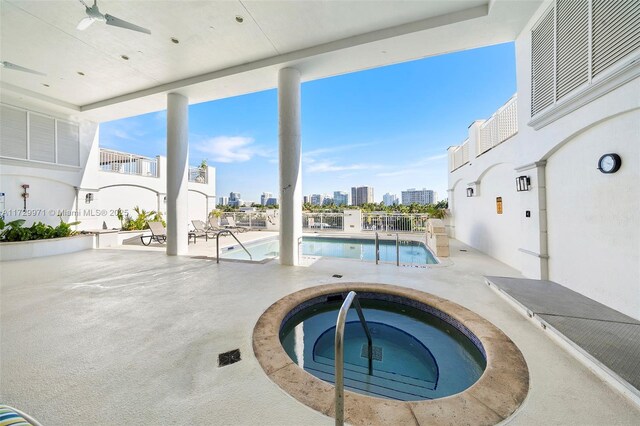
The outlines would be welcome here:
M 3 102 L 6 102 L 3 99 Z M 5 193 L 4 209 L 6 221 L 26 219 L 26 226 L 34 221 L 50 225 L 59 223 L 58 215 L 65 221 L 80 221 L 77 230 L 118 228 L 120 221 L 115 212 L 118 208 L 129 210 L 135 217 L 133 207 L 147 211 L 160 210 L 166 219 L 166 157 L 157 157 L 159 177 L 126 175 L 99 170 L 100 146 L 99 125 L 42 105 L 25 104 L 12 99 L 9 105 L 55 118 L 77 122 L 80 125 L 80 166 L 71 167 L 28 160 L 0 157 L 0 192 Z M 189 182 L 189 218 L 204 219 L 215 207 L 216 174 L 209 167 L 207 183 Z M 27 214 L 23 212 L 21 185 L 30 185 Z M 93 201 L 87 203 L 91 193 Z M 207 204 L 209 201 L 209 205 Z M 1 207 L 1 206 L 0 206 Z

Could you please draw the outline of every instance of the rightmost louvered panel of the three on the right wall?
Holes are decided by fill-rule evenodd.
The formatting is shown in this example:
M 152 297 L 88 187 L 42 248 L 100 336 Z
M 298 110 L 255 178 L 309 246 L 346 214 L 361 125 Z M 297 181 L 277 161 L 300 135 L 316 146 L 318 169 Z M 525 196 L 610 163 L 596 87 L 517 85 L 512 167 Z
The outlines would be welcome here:
M 640 48 L 640 0 L 593 0 L 594 76 Z

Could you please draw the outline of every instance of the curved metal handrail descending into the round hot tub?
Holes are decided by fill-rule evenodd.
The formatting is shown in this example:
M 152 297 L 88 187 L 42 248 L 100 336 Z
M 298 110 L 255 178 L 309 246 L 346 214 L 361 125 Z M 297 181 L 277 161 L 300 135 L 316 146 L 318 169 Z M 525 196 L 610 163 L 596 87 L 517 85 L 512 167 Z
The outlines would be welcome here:
M 336 360 L 336 425 L 344 425 L 344 326 L 347 321 L 347 312 L 351 304 L 356 308 L 358 318 L 362 323 L 364 332 L 367 335 L 367 357 L 369 358 L 369 375 L 373 374 L 373 341 L 371 339 L 371 333 L 369 333 L 369 327 L 364 319 L 360 302 L 358 302 L 358 295 L 355 291 L 350 291 L 347 297 L 345 297 L 340 311 L 338 312 L 338 320 L 336 321 L 336 339 L 335 339 L 335 360 Z

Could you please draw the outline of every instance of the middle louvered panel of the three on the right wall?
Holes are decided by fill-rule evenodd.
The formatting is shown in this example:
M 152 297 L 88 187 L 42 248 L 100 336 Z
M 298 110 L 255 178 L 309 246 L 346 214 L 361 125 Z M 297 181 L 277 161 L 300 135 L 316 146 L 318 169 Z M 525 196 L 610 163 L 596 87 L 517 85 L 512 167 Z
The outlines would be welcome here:
M 556 3 L 556 99 L 589 80 L 589 3 Z

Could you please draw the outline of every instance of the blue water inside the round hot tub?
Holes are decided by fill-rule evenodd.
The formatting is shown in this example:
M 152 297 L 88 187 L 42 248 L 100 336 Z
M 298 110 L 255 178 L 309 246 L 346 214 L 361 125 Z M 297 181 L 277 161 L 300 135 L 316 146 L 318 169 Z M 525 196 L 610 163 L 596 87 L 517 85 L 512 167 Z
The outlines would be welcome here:
M 478 347 L 453 325 L 403 304 L 360 299 L 373 339 L 368 374 L 367 339 L 355 309 L 345 326 L 345 388 L 401 401 L 442 398 L 475 383 L 486 367 Z M 314 376 L 334 382 L 335 323 L 342 300 L 313 304 L 282 326 L 289 357 Z

